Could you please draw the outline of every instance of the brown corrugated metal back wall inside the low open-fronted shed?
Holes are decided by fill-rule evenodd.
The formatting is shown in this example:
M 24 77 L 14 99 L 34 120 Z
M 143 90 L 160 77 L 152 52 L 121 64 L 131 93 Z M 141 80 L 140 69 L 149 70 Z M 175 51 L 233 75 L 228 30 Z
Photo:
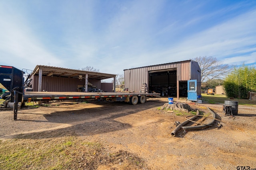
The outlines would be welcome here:
M 96 88 L 101 87 L 100 80 L 88 80 Z M 42 77 L 42 90 L 48 92 L 77 92 L 77 86 L 84 86 L 85 79 L 79 80 L 78 78 L 62 78 L 62 77 Z M 33 76 L 32 82 L 33 91 L 38 91 L 38 76 Z

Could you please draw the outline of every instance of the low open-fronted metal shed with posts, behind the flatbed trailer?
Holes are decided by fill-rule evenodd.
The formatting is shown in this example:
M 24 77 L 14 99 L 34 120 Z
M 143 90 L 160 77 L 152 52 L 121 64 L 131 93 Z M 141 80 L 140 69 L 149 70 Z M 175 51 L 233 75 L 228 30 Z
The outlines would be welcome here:
M 101 80 L 114 78 L 116 82 L 115 74 L 42 65 L 37 65 L 28 78 L 31 80 L 28 86 L 36 92 L 90 92 L 90 88 L 113 92 L 113 83 L 101 83 Z

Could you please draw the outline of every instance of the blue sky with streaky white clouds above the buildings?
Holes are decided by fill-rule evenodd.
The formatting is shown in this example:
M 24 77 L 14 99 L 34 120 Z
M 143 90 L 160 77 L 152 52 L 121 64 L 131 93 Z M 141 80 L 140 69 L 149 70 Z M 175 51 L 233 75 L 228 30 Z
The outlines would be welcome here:
M 256 63 L 256 0 L 0 0 L 0 64 L 123 74 L 199 56 Z

